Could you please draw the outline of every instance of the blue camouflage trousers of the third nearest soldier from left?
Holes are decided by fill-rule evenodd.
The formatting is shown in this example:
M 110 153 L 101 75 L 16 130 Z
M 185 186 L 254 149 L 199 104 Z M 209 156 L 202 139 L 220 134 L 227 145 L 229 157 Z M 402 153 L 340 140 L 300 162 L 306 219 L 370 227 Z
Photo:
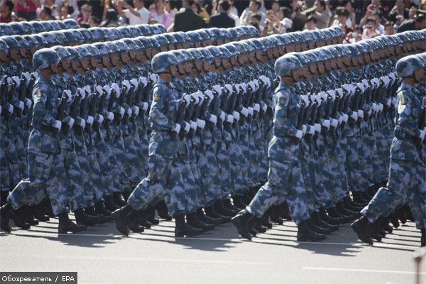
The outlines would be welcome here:
M 307 193 L 298 163 L 298 160 L 288 160 L 285 163 L 270 160 L 268 182 L 258 190 L 246 210 L 261 217 L 280 197 L 285 197 L 296 224 L 310 219 L 306 204 Z

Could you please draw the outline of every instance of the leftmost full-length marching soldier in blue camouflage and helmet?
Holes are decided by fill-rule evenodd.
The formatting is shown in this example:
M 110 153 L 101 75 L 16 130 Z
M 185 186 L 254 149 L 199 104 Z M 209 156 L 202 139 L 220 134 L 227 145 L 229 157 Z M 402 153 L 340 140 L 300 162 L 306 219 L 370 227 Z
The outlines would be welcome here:
M 28 141 L 28 179 L 21 180 L 8 197 L 8 203 L 1 207 L 1 229 L 10 232 L 9 213 L 23 204 L 38 204 L 47 194 L 53 213 L 59 217 L 58 232 L 82 231 L 86 226 L 70 221 L 66 212 L 67 192 L 63 164 L 58 159 L 60 146 L 58 132 L 65 116 L 59 121 L 57 94 L 51 81 L 53 72 L 59 63 L 54 50 L 41 49 L 33 56 L 33 67 L 39 72 L 39 79 L 33 88 L 33 131 Z

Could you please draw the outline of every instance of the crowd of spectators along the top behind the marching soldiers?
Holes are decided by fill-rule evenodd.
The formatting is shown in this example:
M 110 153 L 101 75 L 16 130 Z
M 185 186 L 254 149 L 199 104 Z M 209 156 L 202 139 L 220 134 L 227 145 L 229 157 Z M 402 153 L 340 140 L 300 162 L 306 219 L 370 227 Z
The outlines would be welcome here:
M 339 26 L 353 43 L 426 28 L 426 0 L 0 0 L 0 22 L 74 18 L 83 28 L 162 23 L 168 31 L 255 26 L 263 35 Z

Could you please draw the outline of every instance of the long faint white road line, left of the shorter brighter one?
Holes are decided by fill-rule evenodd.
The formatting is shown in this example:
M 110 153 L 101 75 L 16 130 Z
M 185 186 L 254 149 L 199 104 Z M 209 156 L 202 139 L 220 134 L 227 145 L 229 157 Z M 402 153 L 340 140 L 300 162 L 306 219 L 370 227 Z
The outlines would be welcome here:
M 241 264 L 255 266 L 273 266 L 274 263 L 258 262 L 258 261 L 208 261 L 200 259 L 170 259 L 170 258 L 138 258 L 138 257 L 116 257 L 116 256 L 58 256 L 60 259 L 93 259 L 104 261 L 157 261 L 157 262 L 173 262 L 173 263 L 214 263 L 214 264 Z

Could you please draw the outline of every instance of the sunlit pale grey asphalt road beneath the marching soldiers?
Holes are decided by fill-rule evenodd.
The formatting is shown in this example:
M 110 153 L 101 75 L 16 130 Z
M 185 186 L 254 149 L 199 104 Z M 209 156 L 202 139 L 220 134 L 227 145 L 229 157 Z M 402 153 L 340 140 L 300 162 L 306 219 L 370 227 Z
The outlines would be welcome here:
M 293 222 L 252 241 L 231 224 L 193 238 L 175 238 L 173 229 L 160 222 L 122 237 L 111 223 L 58 235 L 53 219 L 0 234 L 0 271 L 77 271 L 79 283 L 415 283 L 413 223 L 373 246 L 360 244 L 349 225 L 318 243 L 297 243 Z

